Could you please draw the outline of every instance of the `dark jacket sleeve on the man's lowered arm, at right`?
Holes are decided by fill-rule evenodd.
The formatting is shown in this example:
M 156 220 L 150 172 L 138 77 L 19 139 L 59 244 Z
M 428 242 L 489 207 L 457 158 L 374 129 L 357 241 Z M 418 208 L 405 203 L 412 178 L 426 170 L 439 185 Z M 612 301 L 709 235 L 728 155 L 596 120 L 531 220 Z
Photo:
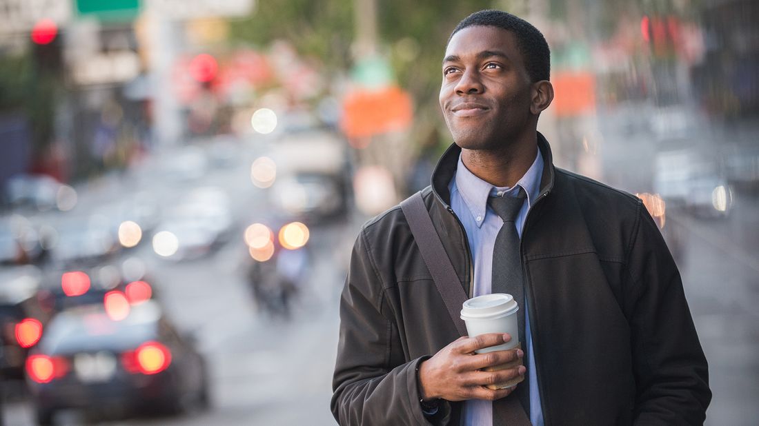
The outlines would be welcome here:
M 711 400 L 707 360 L 679 271 L 645 208 L 628 267 L 635 424 L 703 424 Z

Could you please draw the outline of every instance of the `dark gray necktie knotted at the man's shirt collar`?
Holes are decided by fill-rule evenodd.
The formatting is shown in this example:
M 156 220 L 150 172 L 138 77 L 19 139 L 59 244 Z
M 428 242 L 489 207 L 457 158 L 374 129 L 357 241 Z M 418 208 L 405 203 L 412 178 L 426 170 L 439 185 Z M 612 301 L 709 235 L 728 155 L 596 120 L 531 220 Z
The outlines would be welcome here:
M 488 205 L 493 208 L 503 219 L 503 226 L 496 236 L 496 243 L 493 246 L 493 277 L 491 280 L 491 293 L 508 293 L 514 296 L 514 300 L 519 305 L 518 327 L 519 342 L 521 348 L 527 353 L 527 340 L 524 338 L 524 315 L 527 309 L 524 309 L 524 280 L 522 277 L 521 257 L 519 255 L 519 234 L 515 225 L 515 220 L 519 215 L 524 198 L 527 196 L 524 190 L 519 187 L 517 196 L 490 197 Z M 524 366 L 527 365 L 528 357 L 522 359 Z M 528 373 L 524 374 L 522 381 L 515 390 L 524 411 L 530 413 L 530 392 Z

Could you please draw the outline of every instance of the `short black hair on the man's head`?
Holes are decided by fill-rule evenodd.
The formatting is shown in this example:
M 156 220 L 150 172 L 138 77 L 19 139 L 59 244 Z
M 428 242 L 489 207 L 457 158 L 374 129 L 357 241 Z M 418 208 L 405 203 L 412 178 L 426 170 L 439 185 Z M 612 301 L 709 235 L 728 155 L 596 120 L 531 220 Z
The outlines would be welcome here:
M 504 11 L 479 11 L 465 17 L 458 23 L 449 37 L 467 27 L 498 27 L 510 31 L 517 39 L 517 49 L 524 59 L 524 67 L 532 83 L 549 80 L 551 74 L 551 51 L 543 33 L 528 21 Z

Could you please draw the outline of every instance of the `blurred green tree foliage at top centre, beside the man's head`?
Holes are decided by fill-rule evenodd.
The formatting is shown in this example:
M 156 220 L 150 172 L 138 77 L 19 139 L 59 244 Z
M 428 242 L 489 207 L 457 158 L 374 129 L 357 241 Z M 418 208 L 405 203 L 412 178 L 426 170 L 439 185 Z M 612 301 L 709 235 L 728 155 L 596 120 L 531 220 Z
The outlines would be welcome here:
M 492 0 L 376 0 L 379 52 L 392 64 L 398 85 L 414 97 L 414 139 L 426 137 L 442 123 L 437 94 L 451 31 L 471 12 L 490 7 Z M 320 58 L 329 77 L 353 65 L 355 27 L 354 2 L 262 1 L 250 17 L 231 23 L 231 38 L 258 46 L 286 39 L 302 55 Z

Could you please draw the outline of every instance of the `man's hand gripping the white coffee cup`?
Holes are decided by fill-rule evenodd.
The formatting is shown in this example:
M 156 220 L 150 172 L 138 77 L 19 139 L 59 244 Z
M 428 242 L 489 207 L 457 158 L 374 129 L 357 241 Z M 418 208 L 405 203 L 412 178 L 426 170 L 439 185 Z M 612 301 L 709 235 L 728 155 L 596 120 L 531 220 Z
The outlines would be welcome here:
M 477 337 L 459 337 L 440 349 L 432 358 L 421 363 L 419 384 L 425 400 L 442 398 L 449 401 L 465 399 L 495 399 L 509 395 L 515 387 L 490 390 L 487 385 L 510 381 L 524 374 L 520 365 L 499 371 L 480 371 L 481 368 L 512 362 L 524 356 L 521 349 L 474 353 L 477 349 L 496 346 L 512 340 L 509 334 L 490 333 Z

